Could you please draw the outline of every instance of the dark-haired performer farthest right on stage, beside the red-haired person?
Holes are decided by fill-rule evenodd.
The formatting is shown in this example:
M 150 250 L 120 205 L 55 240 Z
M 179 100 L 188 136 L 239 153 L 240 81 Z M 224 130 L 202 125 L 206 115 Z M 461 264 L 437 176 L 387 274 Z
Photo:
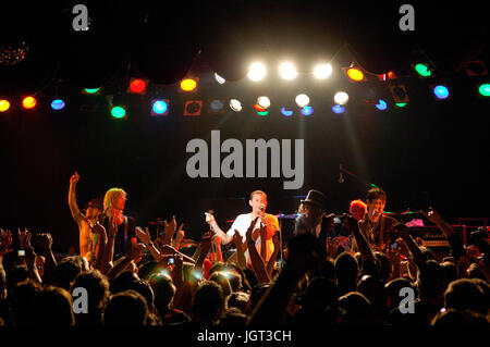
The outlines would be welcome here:
M 359 230 L 373 250 L 385 252 L 396 238 L 393 226 L 399 221 L 383 214 L 384 206 L 387 205 L 387 194 L 383 189 L 369 189 L 366 200 L 367 215 L 358 222 Z M 354 249 L 356 248 L 354 246 Z

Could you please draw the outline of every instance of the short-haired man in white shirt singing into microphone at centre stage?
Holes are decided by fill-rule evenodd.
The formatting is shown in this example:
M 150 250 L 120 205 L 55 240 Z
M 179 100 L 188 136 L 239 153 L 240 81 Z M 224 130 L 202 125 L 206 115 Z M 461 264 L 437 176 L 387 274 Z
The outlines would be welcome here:
M 261 190 L 255 190 L 250 194 L 250 199 L 248 201 L 248 205 L 252 207 L 250 213 L 244 213 L 240 214 L 235 221 L 233 222 L 230 230 L 224 233 L 216 223 L 215 219 L 209 220 L 209 224 L 211 225 L 212 230 L 216 232 L 217 236 L 221 239 L 221 244 L 229 244 L 233 241 L 233 235 L 235 234 L 235 231 L 240 233 L 242 236 L 242 241 L 246 243 L 246 232 L 248 227 L 250 226 L 250 223 L 256 219 L 259 218 L 257 221 L 257 224 L 254 227 L 253 238 L 255 239 L 255 245 L 257 247 L 257 251 L 260 255 L 261 253 L 261 239 L 259 236 L 259 228 L 260 224 L 266 225 L 266 259 L 264 259 L 265 262 L 267 262 L 272 255 L 274 250 L 274 245 L 272 243 L 272 236 L 275 232 L 279 231 L 279 222 L 278 219 L 269 213 L 266 213 L 267 208 L 267 194 Z M 245 259 L 249 260 L 248 250 L 245 252 Z

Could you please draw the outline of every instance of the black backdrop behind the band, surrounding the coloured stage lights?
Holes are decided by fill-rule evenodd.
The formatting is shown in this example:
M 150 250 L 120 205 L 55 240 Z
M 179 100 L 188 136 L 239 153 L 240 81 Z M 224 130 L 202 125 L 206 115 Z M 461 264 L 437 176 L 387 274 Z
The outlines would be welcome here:
M 53 38 L 48 32 L 56 32 L 58 25 L 66 23 L 69 16 L 61 10 L 70 9 L 73 5 L 70 1 L 58 8 L 51 4 L 52 9 L 41 9 L 59 23 L 39 28 L 40 33 L 34 36 L 29 36 L 34 30 L 32 25 L 23 26 L 28 28 L 25 30 L 12 23 L 3 26 L 1 33 L 8 34 L 2 36 L 3 44 L 15 41 L 17 34 L 25 32 L 24 37 L 32 42 L 29 57 L 38 55 L 37 60 L 24 62 L 19 69 L 2 66 L 0 70 L 2 95 L 15 98 L 11 101 L 12 110 L 0 114 L 1 227 L 27 226 L 32 232 L 51 232 L 59 251 L 66 251 L 69 245 L 77 246 L 77 227 L 68 208 L 69 179 L 75 170 L 81 174 L 77 185 L 81 207 L 110 187 L 122 187 L 128 193 L 126 212 L 134 215 L 139 225 L 146 226 L 157 218 L 169 220 L 175 214 L 177 222 L 185 223 L 186 237 L 195 239 L 207 227 L 205 211 L 215 210 L 219 224 L 226 228 L 231 224 L 225 221 L 248 211 L 248 195 L 255 189 L 268 193 L 268 211 L 274 214 L 294 213 L 301 196 L 310 188 L 328 196 L 329 211 L 346 212 L 348 202 L 365 199 L 369 184 L 375 184 L 388 194 L 388 211 L 432 206 L 451 223 L 457 223 L 460 216 L 488 216 L 485 201 L 490 193 L 489 101 L 478 97 L 477 90 L 478 83 L 488 82 L 488 76 L 468 77 L 461 69 L 468 59 L 482 60 L 488 66 L 485 45 L 488 36 L 487 32 L 479 32 L 485 22 L 477 2 L 468 3 L 462 13 L 454 5 L 428 9 L 414 3 L 416 34 L 405 36 L 399 30 L 385 30 L 397 25 L 401 3 L 379 3 L 377 8 L 365 4 L 345 11 L 330 3 L 301 7 L 296 2 L 274 2 L 255 13 L 258 9 L 255 2 L 247 8 L 245 2 L 237 1 L 235 9 L 224 2 L 213 5 L 187 2 L 172 9 L 176 2 L 168 2 L 162 17 L 170 24 L 162 24 L 162 17 L 151 22 L 150 16 L 149 23 L 159 23 L 161 27 L 157 24 L 155 27 L 137 26 L 131 22 L 137 22 L 133 20 L 138 17 L 137 13 L 155 13 L 148 9 L 157 4 L 142 2 L 145 5 L 130 15 L 131 8 L 107 3 L 105 8 L 87 2 L 89 9 L 90 5 L 97 9 L 91 12 L 97 13 L 93 33 L 103 35 L 90 34 L 94 36 L 88 39 L 72 37 L 79 39 L 78 49 L 85 48 L 81 52 L 85 52 L 86 60 L 74 54 L 73 40 L 63 41 L 56 49 L 47 44 L 48 38 Z M 122 26 L 122 33 L 111 36 L 108 27 L 102 30 L 98 26 L 97 18 L 107 20 L 108 25 L 115 16 L 112 9 L 121 11 L 128 21 Z M 243 17 L 233 21 L 241 13 Z M 343 16 L 333 16 L 334 13 Z M 19 16 L 25 15 L 34 16 L 30 11 Z M 188 29 L 175 27 L 177 18 L 182 17 L 196 22 Z M 317 33 L 319 27 L 322 34 Z M 448 30 L 449 37 L 438 37 L 434 34 L 438 28 Z M 74 35 L 70 30 L 59 33 L 65 39 Z M 253 36 L 257 33 L 264 35 Z M 308 36 L 311 33 L 317 34 Z M 106 34 L 110 40 L 106 39 Z M 166 44 L 154 45 L 151 37 Z M 216 41 L 210 40 L 211 37 Z M 186 46 L 184 41 L 193 44 Z M 252 45 L 254 41 L 260 51 L 267 51 L 269 70 L 275 69 L 281 53 L 289 47 L 299 64 L 298 78 L 286 83 L 272 72 L 259 84 L 243 78 L 242 66 L 254 57 L 253 48 L 257 47 Z M 344 42 L 348 42 L 350 49 L 342 48 Z M 118 48 L 119 44 L 123 45 Z M 151 47 L 156 52 L 145 54 Z M 414 47 L 424 47 L 425 53 L 430 55 L 436 66 L 434 77 L 421 79 L 411 71 L 414 55 L 408 52 Z M 53 55 L 58 60 L 48 60 Z M 149 59 L 154 55 L 173 69 L 163 69 L 163 62 L 157 64 Z M 314 57 L 333 59 L 334 73 L 324 83 L 311 79 L 307 73 L 308 62 L 314 61 Z M 342 74 L 340 67 L 348 66 L 353 60 L 368 72 L 368 82 L 352 84 Z M 56 67 L 51 66 L 52 61 L 57 62 Z M 390 83 L 376 79 L 377 73 L 390 70 L 400 76 L 396 83 L 406 86 L 409 104 L 404 109 L 394 108 L 388 88 Z M 49 78 L 29 75 L 33 71 Z M 218 85 L 213 80 L 215 71 L 230 82 Z M 200 78 L 198 91 L 193 95 L 177 92 L 174 85 L 187 72 Z M 150 79 L 146 95 L 125 92 L 131 76 Z M 450 87 L 450 100 L 433 99 L 430 86 L 439 82 Z M 100 85 L 102 94 L 99 96 L 79 92 L 82 87 Z M 333 94 L 339 88 L 351 97 L 346 113 L 342 115 L 331 111 Z M 298 91 L 310 96 L 314 115 L 303 116 L 297 109 L 292 117 L 281 115 L 280 107 L 293 107 Z M 37 92 L 38 106 L 33 111 L 22 110 L 20 96 L 30 92 Z M 107 97 L 117 94 L 128 107 L 125 120 L 109 115 Z M 68 103 L 61 112 L 49 108 L 56 95 Z M 157 95 L 170 99 L 168 116 L 150 116 L 149 102 Z M 252 108 L 260 95 L 269 96 L 272 101 L 269 114 L 264 117 Z M 389 101 L 388 111 L 375 109 L 369 102 L 373 95 Z M 207 106 L 213 98 L 237 98 L 245 107 L 241 113 L 228 110 L 210 114 Z M 204 100 L 200 116 L 182 115 L 185 100 L 192 99 Z M 284 190 L 284 177 L 188 178 L 185 164 L 191 154 L 185 152 L 186 144 L 193 138 L 203 138 L 210 147 L 211 129 L 221 131 L 221 141 L 236 138 L 243 144 L 247 138 L 303 138 L 303 188 Z M 344 173 L 345 182 L 340 184 L 340 164 L 358 178 Z

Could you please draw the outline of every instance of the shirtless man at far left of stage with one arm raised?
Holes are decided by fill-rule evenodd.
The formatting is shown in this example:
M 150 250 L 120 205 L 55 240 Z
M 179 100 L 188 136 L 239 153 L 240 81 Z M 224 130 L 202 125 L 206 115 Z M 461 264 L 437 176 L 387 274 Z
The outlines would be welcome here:
M 99 199 L 93 199 L 88 203 L 85 214 L 81 212 L 76 205 L 76 184 L 79 181 L 77 172 L 70 178 L 69 190 L 69 207 L 72 212 L 72 216 L 78 225 L 79 231 L 79 255 L 88 260 L 93 261 L 93 255 L 97 241 L 94 238 L 91 228 L 97 223 L 99 216 L 102 214 L 102 201 Z

